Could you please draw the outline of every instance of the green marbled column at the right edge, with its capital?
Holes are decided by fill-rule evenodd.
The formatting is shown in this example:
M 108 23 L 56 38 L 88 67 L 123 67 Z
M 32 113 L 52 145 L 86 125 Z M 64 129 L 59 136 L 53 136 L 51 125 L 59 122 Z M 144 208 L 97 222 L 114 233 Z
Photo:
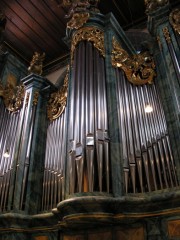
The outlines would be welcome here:
M 169 5 L 162 1 L 161 6 L 149 11 L 148 29 L 157 39 L 154 58 L 157 68 L 156 84 L 165 111 L 168 133 L 180 180 L 180 73 L 173 59 L 178 56 L 179 48 L 174 32 L 169 23 Z M 165 34 L 165 30 L 168 30 Z M 177 63 L 178 64 L 178 63 Z

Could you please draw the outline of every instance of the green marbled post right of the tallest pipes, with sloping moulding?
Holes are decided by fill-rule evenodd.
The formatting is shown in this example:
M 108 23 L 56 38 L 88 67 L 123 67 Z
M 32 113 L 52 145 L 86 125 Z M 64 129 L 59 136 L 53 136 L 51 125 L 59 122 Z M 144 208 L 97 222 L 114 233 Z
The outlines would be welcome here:
M 118 39 L 123 48 L 133 54 L 135 53 L 129 39 L 126 37 L 123 29 L 117 23 L 113 14 L 105 16 L 105 63 L 106 63 L 106 86 L 107 86 L 107 106 L 109 120 L 109 135 L 110 135 L 110 159 L 112 172 L 112 188 L 115 197 L 124 194 L 124 179 L 123 179 L 123 155 L 122 155 L 122 135 L 120 122 L 117 111 L 117 94 L 116 94 L 116 76 L 115 69 L 112 66 L 112 40 L 113 37 Z

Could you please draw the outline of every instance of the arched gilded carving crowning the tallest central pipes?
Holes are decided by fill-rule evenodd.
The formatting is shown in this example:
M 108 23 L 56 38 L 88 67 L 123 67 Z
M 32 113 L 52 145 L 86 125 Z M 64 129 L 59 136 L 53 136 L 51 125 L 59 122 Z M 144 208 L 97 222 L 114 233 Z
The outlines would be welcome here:
M 80 41 L 93 42 L 100 54 L 105 57 L 104 32 L 97 27 L 84 27 L 75 32 L 72 37 L 71 57 L 73 59 L 74 50 Z

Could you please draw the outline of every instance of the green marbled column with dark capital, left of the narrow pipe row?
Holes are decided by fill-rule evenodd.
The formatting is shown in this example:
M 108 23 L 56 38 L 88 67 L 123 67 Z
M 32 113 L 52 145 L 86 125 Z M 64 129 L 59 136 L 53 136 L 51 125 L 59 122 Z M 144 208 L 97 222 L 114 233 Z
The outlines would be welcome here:
M 47 130 L 47 99 L 42 90 L 50 87 L 50 83 L 35 74 L 25 77 L 22 82 L 26 95 L 18 126 L 10 205 L 14 211 L 35 214 L 41 202 Z

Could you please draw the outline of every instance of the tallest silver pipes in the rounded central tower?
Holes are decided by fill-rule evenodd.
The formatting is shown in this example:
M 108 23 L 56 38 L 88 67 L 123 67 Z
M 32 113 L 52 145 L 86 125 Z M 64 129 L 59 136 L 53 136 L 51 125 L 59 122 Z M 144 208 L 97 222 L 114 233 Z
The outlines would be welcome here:
M 96 190 L 109 192 L 105 65 L 99 51 L 90 42 L 80 42 L 75 50 L 72 86 L 69 118 L 75 119 L 75 123 L 72 127 L 74 134 L 69 134 L 70 194 L 92 192 L 96 181 Z

